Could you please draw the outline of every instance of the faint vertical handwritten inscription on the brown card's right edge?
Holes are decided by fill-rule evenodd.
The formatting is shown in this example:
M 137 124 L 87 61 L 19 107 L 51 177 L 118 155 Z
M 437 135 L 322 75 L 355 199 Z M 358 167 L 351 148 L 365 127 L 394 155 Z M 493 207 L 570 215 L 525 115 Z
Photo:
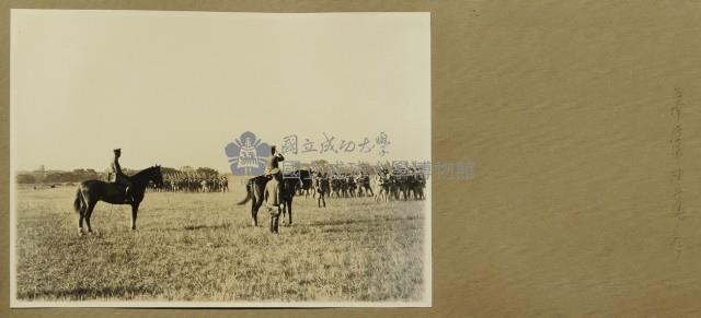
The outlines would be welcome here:
M 679 233 L 679 225 L 685 219 L 683 210 L 683 168 L 681 166 L 681 156 L 683 154 L 683 128 L 681 126 L 681 117 L 683 115 L 683 91 L 681 87 L 675 87 L 675 97 L 671 105 L 671 137 L 669 143 L 671 145 L 673 169 L 670 173 L 670 181 L 674 188 L 674 200 L 671 205 L 671 214 L 675 217 L 675 232 L 673 247 L 677 252 L 677 260 L 681 257 L 683 249 L 683 238 Z

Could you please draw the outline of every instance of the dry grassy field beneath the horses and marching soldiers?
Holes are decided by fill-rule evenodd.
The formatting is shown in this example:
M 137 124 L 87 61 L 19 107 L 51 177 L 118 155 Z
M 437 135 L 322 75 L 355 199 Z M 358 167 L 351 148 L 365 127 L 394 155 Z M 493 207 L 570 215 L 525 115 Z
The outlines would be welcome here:
M 295 199 L 295 224 L 268 232 L 229 193 L 147 193 L 99 203 L 78 235 L 74 187 L 16 193 L 16 291 L 22 301 L 420 301 L 424 202 Z

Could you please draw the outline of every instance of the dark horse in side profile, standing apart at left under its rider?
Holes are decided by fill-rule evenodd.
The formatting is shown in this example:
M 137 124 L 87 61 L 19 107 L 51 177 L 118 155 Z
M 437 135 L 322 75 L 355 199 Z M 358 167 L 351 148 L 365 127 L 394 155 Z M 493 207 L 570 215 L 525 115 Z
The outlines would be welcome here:
M 83 233 L 83 220 L 85 220 L 85 224 L 88 224 L 88 232 L 92 232 L 90 227 L 90 215 L 92 215 L 92 210 L 95 209 L 95 204 L 97 204 L 99 201 L 111 204 L 131 205 L 131 229 L 136 229 L 136 214 L 139 211 L 139 204 L 143 200 L 146 187 L 149 181 L 153 181 L 157 187 L 162 187 L 163 176 L 161 175 L 161 167 L 157 165 L 140 170 L 138 174 L 129 177 L 129 179 L 131 180 L 130 192 L 134 197 L 133 202 L 127 202 L 122 186 L 113 182 L 88 180 L 78 186 L 73 208 L 76 212 L 80 213 L 78 221 L 78 231 L 80 234 Z

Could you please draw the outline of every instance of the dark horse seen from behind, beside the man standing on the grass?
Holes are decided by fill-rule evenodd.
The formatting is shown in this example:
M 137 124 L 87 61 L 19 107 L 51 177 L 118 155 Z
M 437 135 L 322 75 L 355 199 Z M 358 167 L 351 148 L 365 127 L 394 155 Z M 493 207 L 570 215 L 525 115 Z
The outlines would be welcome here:
M 280 204 L 278 207 L 268 207 L 271 212 L 271 232 L 278 232 L 279 216 L 287 213 L 289 216 L 289 222 L 287 222 L 287 226 L 292 225 L 292 198 L 295 197 L 295 191 L 297 187 L 300 185 L 300 172 L 294 172 L 291 174 L 285 174 L 283 177 L 284 191 L 280 193 Z M 269 180 L 267 176 L 257 176 L 250 178 L 245 184 L 246 197 L 241 200 L 241 202 L 237 203 L 239 205 L 245 204 L 249 201 L 251 202 L 251 220 L 253 222 L 253 226 L 258 226 L 258 210 L 263 202 L 266 202 L 269 196 L 274 196 L 274 193 L 266 192 L 266 185 Z M 271 199 L 273 200 L 273 199 Z

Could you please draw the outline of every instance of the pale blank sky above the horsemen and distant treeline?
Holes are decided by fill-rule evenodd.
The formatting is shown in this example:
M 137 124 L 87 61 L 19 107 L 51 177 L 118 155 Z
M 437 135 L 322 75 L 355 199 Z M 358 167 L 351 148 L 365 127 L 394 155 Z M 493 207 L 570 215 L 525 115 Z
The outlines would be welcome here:
M 430 158 L 428 13 L 215 13 L 12 10 L 15 169 L 189 165 L 229 170 L 244 131 L 269 144 L 323 132 L 386 156 Z

